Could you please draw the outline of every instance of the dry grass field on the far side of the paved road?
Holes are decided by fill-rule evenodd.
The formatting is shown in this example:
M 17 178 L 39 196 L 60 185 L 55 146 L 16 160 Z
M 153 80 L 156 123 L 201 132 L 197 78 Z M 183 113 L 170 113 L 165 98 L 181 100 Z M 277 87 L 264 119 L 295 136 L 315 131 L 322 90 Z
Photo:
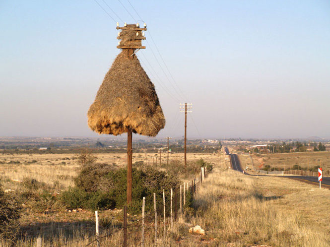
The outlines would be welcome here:
M 330 170 L 330 152 L 261 154 L 260 156 L 252 154 L 251 157 L 257 169 L 261 164 L 275 168 L 285 167 L 285 169 L 293 167 L 294 165 L 307 168 L 307 163 L 309 163 L 309 169 L 321 164 L 324 170 Z M 241 154 L 240 158 L 242 165 L 252 165 L 249 154 Z

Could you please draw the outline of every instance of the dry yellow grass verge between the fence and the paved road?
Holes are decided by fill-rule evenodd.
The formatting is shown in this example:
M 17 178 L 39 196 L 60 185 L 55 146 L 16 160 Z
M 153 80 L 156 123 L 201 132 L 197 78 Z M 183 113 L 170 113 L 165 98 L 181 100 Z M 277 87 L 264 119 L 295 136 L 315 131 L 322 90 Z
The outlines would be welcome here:
M 329 189 L 216 169 L 196 195 L 199 224 L 219 246 L 329 246 Z

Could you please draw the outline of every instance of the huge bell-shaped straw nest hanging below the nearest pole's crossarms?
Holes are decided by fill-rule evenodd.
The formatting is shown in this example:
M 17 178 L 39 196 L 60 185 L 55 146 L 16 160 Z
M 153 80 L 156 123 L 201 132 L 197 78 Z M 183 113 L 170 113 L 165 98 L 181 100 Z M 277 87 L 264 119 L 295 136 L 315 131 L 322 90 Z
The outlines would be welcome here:
M 87 113 L 89 127 L 100 134 L 128 132 L 156 136 L 165 126 L 159 100 L 136 56 L 123 50 L 105 75 Z

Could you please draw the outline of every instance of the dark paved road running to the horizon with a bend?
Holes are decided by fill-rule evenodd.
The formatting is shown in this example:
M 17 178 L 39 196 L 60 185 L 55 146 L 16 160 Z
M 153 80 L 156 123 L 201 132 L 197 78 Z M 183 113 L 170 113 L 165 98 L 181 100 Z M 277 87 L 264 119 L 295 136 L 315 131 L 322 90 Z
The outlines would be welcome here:
M 227 147 L 225 147 L 225 152 L 227 155 L 230 155 L 230 163 L 231 163 L 231 168 L 235 171 L 238 172 L 243 172 L 242 170 L 242 166 L 241 166 L 241 162 L 237 156 L 237 154 L 231 154 L 228 150 Z M 264 177 L 269 177 L 269 175 L 252 175 L 252 174 L 248 174 L 245 173 L 246 175 L 249 176 L 264 176 Z M 280 177 L 280 178 L 286 178 L 286 179 L 293 179 L 293 180 L 297 180 L 297 181 L 301 181 L 307 184 L 312 184 L 312 185 L 320 185 L 319 181 L 318 181 L 318 177 L 312 177 L 312 176 L 271 176 L 271 177 Z M 322 185 L 323 187 L 327 187 L 330 188 L 330 177 L 323 177 L 322 180 Z

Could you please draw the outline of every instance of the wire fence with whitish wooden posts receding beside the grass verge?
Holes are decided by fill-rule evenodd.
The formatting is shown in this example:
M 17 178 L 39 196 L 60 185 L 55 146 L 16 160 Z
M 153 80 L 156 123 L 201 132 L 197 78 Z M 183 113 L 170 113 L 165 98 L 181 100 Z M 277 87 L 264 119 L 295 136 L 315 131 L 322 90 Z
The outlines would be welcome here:
M 109 210 L 95 211 L 95 235 L 88 236 L 86 238 L 79 239 L 77 241 L 67 241 L 64 246 L 102 246 L 102 241 L 106 238 L 112 238 L 115 234 L 122 232 L 123 234 L 123 246 L 127 246 L 128 238 L 138 241 L 137 238 L 140 238 L 140 246 L 144 246 L 145 235 L 151 235 L 154 233 L 154 246 L 157 246 L 159 240 L 165 240 L 165 237 L 168 231 L 174 230 L 173 222 L 177 222 L 179 217 L 185 215 L 185 207 L 187 204 L 187 196 L 191 196 L 191 200 L 194 198 L 194 194 L 201 188 L 202 183 L 207 177 L 208 173 L 206 167 L 201 167 L 200 173 L 198 176 L 195 176 L 190 182 L 185 182 L 183 185 L 177 185 L 174 188 L 171 188 L 170 191 L 163 190 L 162 201 L 156 201 L 154 193 L 154 209 L 145 212 L 145 197 L 142 200 L 142 212 L 141 216 L 135 216 L 131 219 L 133 222 L 128 223 L 128 213 L 127 206 L 124 206 L 122 209 L 123 213 L 123 224 L 122 225 L 111 225 L 109 223 L 105 226 L 102 234 L 99 234 L 99 213 L 103 213 Z M 165 194 L 167 196 L 165 196 Z M 161 206 L 161 207 L 160 207 Z M 162 214 L 157 215 L 161 208 Z M 153 215 L 154 214 L 154 215 Z M 158 220 L 157 220 L 158 219 Z M 159 226 L 159 227 L 158 227 Z M 129 231 L 128 231 L 129 230 Z M 140 235 L 140 237 L 138 237 Z M 152 237 L 150 237 L 152 238 Z M 149 238 L 149 241 L 150 241 Z M 82 242 L 88 241 L 88 244 Z M 37 239 L 37 247 L 42 246 L 42 240 L 39 237 Z M 79 244 L 80 243 L 80 244 Z M 135 242 L 136 243 L 136 242 Z M 104 246 L 107 246 L 105 244 Z

